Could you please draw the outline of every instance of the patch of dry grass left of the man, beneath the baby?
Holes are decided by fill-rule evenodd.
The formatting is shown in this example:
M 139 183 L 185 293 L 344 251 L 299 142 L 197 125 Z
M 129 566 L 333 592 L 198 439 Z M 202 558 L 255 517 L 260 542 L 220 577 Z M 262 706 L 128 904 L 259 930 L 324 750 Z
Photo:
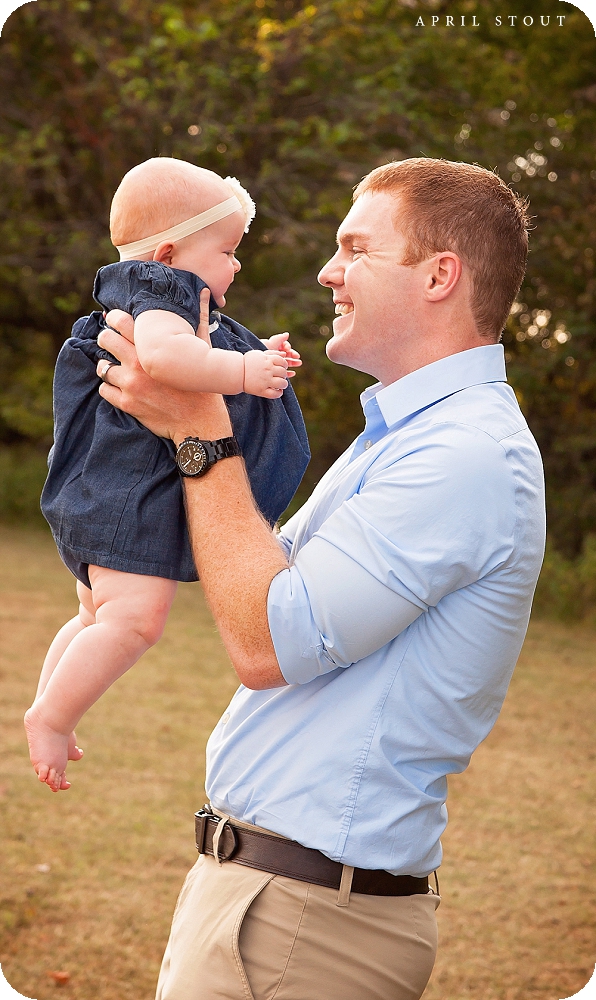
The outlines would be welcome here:
M 21 717 L 48 641 L 76 613 L 72 577 L 45 533 L 4 530 L 0 549 L 2 969 L 36 1000 L 55 997 L 52 970 L 71 974 L 64 1000 L 149 1000 L 234 674 L 199 587 L 181 587 L 162 642 L 78 727 L 86 759 L 52 795 Z

